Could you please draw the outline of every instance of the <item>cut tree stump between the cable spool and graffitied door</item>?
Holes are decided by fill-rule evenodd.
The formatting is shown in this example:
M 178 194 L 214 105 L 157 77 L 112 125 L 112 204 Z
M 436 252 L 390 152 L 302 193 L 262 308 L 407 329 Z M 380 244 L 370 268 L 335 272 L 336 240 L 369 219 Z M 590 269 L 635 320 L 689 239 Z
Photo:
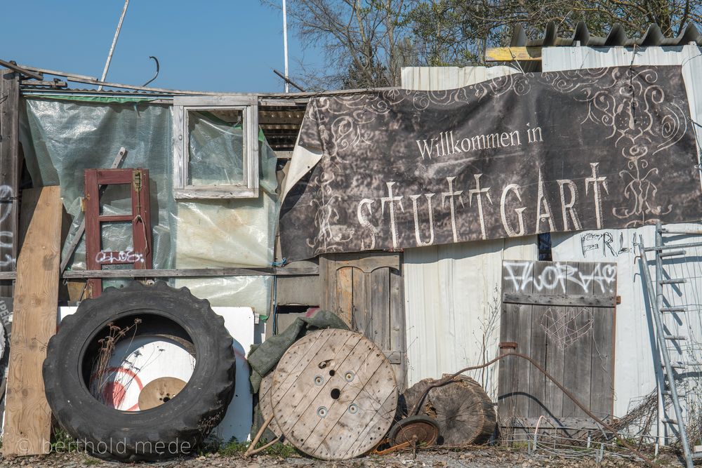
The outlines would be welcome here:
M 406 389 L 402 395 L 407 414 L 426 389 L 436 382 L 424 379 Z M 465 446 L 485 443 L 495 431 L 495 408 L 478 382 L 470 377 L 456 377 L 446 385 L 430 389 L 419 414 L 433 417 L 439 424 L 439 445 Z

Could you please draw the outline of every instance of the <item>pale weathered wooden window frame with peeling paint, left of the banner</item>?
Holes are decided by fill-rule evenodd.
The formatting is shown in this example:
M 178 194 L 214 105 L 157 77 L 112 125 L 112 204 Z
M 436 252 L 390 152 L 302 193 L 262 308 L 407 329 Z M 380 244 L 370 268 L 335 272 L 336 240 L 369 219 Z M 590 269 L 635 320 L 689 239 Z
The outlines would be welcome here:
M 244 182 L 237 185 L 187 185 L 187 113 L 240 110 L 244 116 Z M 173 98 L 173 196 L 176 199 L 258 198 L 258 96 L 176 96 Z

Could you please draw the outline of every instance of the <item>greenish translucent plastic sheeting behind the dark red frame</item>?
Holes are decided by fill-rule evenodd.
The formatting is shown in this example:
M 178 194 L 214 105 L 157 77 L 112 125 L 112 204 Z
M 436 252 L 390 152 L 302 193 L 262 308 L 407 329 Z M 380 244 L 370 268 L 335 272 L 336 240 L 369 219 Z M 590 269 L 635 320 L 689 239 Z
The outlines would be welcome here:
M 171 109 L 148 103 L 95 103 L 65 100 L 23 100 L 20 138 L 35 187 L 60 185 L 63 204 L 72 217 L 62 259 L 83 220 L 84 169 L 109 168 L 121 147 L 127 149 L 121 167 L 147 168 L 150 178 L 154 268 L 171 268 L 175 218 L 173 213 L 173 149 Z M 101 198 L 103 213 L 131 210 L 129 193 L 109 187 Z M 102 246 L 131 248 L 131 225 L 102 227 Z M 85 239 L 81 240 L 70 269 L 85 269 Z

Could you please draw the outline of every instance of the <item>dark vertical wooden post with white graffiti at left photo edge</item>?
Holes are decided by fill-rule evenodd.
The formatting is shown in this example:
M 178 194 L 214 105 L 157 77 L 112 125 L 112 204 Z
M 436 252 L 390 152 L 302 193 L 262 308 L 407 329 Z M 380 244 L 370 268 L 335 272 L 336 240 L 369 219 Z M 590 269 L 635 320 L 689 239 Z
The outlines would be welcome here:
M 20 76 L 0 70 L 0 271 L 13 272 L 19 251 L 19 132 Z M 9 297 L 13 286 L 0 286 Z

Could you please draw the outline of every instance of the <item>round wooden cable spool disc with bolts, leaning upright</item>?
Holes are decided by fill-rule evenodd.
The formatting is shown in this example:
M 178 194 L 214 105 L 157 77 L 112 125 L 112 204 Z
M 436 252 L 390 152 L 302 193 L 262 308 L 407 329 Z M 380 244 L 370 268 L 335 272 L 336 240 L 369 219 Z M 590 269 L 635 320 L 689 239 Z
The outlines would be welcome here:
M 359 333 L 310 333 L 285 352 L 272 374 L 274 419 L 307 455 L 356 457 L 376 446 L 392 425 L 395 373 L 385 354 Z

